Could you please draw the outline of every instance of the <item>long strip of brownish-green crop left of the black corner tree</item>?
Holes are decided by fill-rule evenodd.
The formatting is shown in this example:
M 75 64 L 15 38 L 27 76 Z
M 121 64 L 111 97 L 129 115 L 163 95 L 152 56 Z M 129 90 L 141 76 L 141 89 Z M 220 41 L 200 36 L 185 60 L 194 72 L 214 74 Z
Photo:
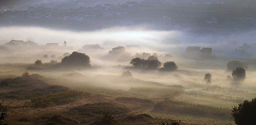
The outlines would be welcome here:
M 230 114 L 231 109 L 213 107 L 209 105 L 200 105 L 189 102 L 181 102 L 177 100 L 157 102 L 154 105 L 154 111 L 232 119 L 232 116 Z

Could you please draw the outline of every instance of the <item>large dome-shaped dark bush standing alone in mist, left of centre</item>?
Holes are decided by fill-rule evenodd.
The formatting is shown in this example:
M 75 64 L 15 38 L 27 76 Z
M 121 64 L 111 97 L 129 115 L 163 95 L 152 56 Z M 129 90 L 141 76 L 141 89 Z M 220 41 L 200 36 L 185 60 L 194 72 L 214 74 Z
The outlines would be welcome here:
M 62 65 L 67 66 L 90 66 L 90 57 L 86 54 L 74 51 L 61 60 Z

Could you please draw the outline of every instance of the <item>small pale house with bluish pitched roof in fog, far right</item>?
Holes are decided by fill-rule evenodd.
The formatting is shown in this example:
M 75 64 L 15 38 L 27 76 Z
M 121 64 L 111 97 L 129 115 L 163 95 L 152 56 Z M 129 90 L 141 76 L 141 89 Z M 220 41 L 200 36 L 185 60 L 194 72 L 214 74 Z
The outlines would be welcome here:
M 229 59 L 241 59 L 241 60 L 246 60 L 246 59 L 249 59 L 249 55 L 246 54 L 244 51 L 233 51 L 229 54 L 226 54 L 225 56 L 226 58 L 229 58 Z

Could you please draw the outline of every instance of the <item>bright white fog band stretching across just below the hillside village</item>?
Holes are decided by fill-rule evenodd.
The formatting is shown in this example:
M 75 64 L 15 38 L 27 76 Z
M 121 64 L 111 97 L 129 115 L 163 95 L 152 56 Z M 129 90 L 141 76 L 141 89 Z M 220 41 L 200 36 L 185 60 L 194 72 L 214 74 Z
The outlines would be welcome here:
M 182 31 L 149 30 L 139 26 L 79 32 L 41 27 L 0 27 L 0 32 L 0 43 L 2 44 L 10 40 L 33 40 L 35 43 L 41 45 L 67 41 L 68 45 L 74 48 L 81 48 L 84 44 L 98 43 L 107 49 L 118 45 L 140 45 L 145 48 L 161 51 L 177 47 L 182 49 L 189 45 L 212 47 L 215 50 L 227 51 L 242 43 L 253 44 L 256 40 L 256 37 L 252 35 L 255 31 L 201 36 L 200 34 L 185 33 Z

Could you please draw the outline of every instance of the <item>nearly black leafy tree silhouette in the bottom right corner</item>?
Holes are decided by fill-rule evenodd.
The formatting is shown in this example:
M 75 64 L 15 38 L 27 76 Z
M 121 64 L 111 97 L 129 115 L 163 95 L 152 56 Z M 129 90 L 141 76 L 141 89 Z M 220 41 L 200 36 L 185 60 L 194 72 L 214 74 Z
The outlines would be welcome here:
M 256 125 L 256 98 L 252 101 L 245 100 L 232 109 L 232 116 L 237 125 Z

